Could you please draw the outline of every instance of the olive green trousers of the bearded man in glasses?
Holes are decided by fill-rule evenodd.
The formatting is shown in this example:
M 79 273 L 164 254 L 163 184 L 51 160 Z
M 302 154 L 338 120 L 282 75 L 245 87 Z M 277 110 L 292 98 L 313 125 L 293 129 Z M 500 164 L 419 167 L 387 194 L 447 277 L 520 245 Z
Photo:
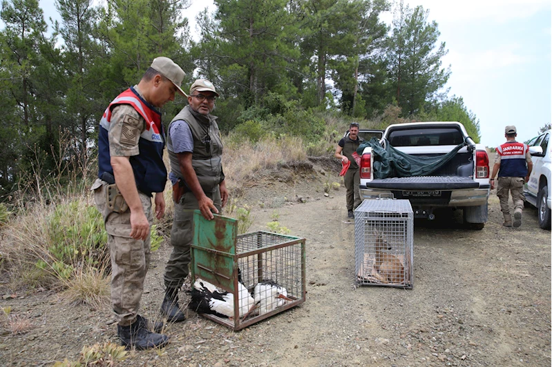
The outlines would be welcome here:
M 218 186 L 205 195 L 213 200 L 220 213 L 222 201 Z M 171 228 L 173 252 L 166 262 L 164 283 L 166 288 L 180 288 L 188 276 L 191 261 L 190 245 L 193 239 L 193 210 L 199 209 L 198 200 L 193 192 L 185 192 L 180 202 L 174 204 L 174 220 Z

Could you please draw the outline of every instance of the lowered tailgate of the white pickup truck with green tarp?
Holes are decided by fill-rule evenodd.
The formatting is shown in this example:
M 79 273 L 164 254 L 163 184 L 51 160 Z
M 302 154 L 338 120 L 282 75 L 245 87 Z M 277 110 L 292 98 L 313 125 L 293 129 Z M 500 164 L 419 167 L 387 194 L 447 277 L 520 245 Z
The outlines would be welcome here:
M 470 177 L 459 176 L 417 176 L 374 179 L 361 185 L 361 188 L 385 190 L 459 190 L 479 188 L 479 183 Z

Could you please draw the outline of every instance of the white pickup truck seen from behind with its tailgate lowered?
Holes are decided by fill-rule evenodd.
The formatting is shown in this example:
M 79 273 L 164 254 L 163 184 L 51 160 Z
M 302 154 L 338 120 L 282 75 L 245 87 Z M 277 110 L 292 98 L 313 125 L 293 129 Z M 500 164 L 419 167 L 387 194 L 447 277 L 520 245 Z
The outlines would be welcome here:
M 388 126 L 383 132 L 392 147 L 408 155 L 446 155 L 466 142 L 456 155 L 430 176 L 374 178 L 372 148 L 364 148 L 360 164 L 362 199 L 392 195 L 408 199 L 415 217 L 435 219 L 433 210 L 453 207 L 464 210 L 468 228 L 481 230 L 488 216 L 489 161 L 485 147 L 468 136 L 459 122 L 417 122 Z M 385 143 L 381 139 L 380 143 Z

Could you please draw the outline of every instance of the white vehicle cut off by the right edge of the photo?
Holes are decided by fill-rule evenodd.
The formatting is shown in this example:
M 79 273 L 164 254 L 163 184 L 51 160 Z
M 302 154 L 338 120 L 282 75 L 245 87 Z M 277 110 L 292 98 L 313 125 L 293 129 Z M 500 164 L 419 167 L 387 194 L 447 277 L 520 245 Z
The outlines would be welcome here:
M 527 143 L 533 160 L 533 170 L 529 182 L 524 186 L 526 201 L 537 208 L 540 228 L 547 230 L 552 228 L 550 135 L 551 130 L 548 130 Z

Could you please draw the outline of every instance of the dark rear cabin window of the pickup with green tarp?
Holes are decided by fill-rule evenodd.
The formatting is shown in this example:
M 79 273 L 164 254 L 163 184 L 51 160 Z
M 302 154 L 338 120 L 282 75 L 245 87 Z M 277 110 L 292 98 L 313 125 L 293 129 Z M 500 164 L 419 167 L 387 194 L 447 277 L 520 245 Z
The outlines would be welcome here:
M 392 146 L 457 146 L 464 139 L 455 128 L 397 130 L 389 134 Z

